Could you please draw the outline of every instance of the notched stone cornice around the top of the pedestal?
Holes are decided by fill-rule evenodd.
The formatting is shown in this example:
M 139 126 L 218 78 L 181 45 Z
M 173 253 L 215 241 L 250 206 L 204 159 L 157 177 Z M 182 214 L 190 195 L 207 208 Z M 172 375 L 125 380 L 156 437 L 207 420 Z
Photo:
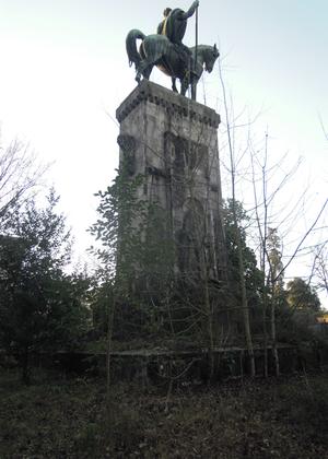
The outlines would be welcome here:
M 133 108 L 143 101 L 161 105 L 169 114 L 178 114 L 213 128 L 218 128 L 220 123 L 220 115 L 212 108 L 184 97 L 148 80 L 142 80 L 142 82 L 120 104 L 116 110 L 117 120 L 121 122 Z

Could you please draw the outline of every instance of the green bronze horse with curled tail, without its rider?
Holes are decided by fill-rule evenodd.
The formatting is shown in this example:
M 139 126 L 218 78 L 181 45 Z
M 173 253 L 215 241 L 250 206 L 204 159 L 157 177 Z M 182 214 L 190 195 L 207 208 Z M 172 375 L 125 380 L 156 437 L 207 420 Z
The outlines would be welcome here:
M 141 39 L 139 51 L 137 40 Z M 196 101 L 196 86 L 203 72 L 213 70 L 215 60 L 220 56 L 216 45 L 199 45 L 190 50 L 189 66 L 186 58 L 181 58 L 179 47 L 165 35 L 144 35 L 141 31 L 133 28 L 127 35 L 127 54 L 130 67 L 134 63 L 136 81 L 139 83 L 141 78 L 149 80 L 153 67 L 156 66 L 166 75 L 172 78 L 172 89 L 177 93 L 175 81 L 178 79 L 181 84 L 180 94 L 185 95 L 191 85 L 191 98 Z

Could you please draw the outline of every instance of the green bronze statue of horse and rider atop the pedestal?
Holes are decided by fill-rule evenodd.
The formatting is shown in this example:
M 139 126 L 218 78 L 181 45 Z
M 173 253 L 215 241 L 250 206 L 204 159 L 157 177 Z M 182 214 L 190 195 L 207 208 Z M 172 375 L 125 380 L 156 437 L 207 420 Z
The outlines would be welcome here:
M 157 27 L 157 34 L 144 35 L 133 28 L 127 35 L 126 46 L 129 64 L 134 63 L 136 81 L 149 80 L 153 67 L 156 66 L 172 78 L 172 89 L 177 92 L 176 79 L 180 81 L 180 94 L 185 95 L 191 86 L 191 98 L 196 101 L 196 86 L 203 72 L 213 70 L 219 57 L 216 45 L 197 45 L 188 48 L 183 44 L 188 19 L 197 12 L 199 1 L 194 1 L 187 12 L 176 8 L 164 10 L 164 20 Z M 197 19 L 197 14 L 196 14 Z M 197 21 L 196 21 L 197 24 Z M 196 25 L 197 31 L 197 25 Z M 197 35 L 197 34 L 196 34 Z M 141 39 L 139 50 L 137 40 Z

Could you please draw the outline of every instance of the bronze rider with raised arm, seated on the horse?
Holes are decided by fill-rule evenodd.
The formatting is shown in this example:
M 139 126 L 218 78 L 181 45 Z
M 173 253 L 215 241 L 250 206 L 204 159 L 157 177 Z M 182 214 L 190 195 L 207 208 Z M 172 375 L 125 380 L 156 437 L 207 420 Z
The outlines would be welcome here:
M 183 44 L 183 38 L 187 28 L 187 21 L 196 11 L 196 8 L 199 5 L 199 0 L 194 1 L 191 7 L 187 12 L 176 8 L 172 10 L 166 8 L 164 10 L 164 20 L 159 24 L 157 34 L 165 35 L 169 42 L 172 42 L 179 52 L 181 59 L 186 67 L 189 67 L 191 51 L 190 49 Z

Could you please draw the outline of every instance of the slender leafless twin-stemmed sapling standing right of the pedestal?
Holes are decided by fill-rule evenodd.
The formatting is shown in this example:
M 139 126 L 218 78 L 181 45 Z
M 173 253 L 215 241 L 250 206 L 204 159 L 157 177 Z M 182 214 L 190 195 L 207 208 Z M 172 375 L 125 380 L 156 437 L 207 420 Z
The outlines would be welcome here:
M 317 211 L 312 224 L 303 234 L 294 236 L 297 223 L 308 222 L 308 215 L 313 214 L 314 203 L 309 200 L 308 188 L 301 189 L 300 193 L 289 192 L 289 187 L 294 185 L 293 177 L 298 170 L 301 161 L 286 166 L 288 155 L 269 161 L 268 139 L 266 133 L 262 149 L 256 149 L 249 140 L 249 155 L 251 162 L 251 181 L 254 190 L 254 214 L 259 239 L 260 267 L 263 272 L 263 344 L 265 357 L 267 356 L 267 321 L 270 323 L 270 340 L 272 345 L 273 362 L 277 376 L 279 375 L 279 356 L 277 350 L 276 309 L 279 293 L 283 289 L 283 276 L 286 269 L 297 257 L 302 256 L 304 242 L 317 227 L 319 220 L 327 205 L 324 202 Z M 272 156 L 272 155 L 271 155 Z M 294 190 L 293 190 L 294 191 Z M 283 197 L 290 196 L 290 199 Z M 282 242 L 288 242 L 289 247 L 294 248 L 289 255 L 283 254 Z M 270 318 L 267 317 L 267 308 L 270 309 Z M 265 365 L 267 375 L 267 358 Z

